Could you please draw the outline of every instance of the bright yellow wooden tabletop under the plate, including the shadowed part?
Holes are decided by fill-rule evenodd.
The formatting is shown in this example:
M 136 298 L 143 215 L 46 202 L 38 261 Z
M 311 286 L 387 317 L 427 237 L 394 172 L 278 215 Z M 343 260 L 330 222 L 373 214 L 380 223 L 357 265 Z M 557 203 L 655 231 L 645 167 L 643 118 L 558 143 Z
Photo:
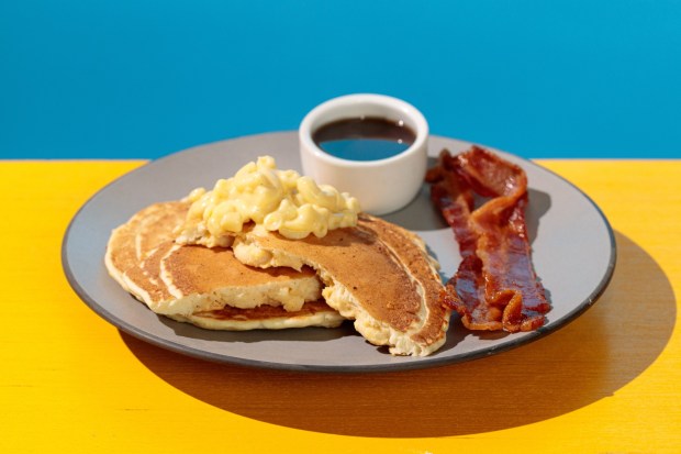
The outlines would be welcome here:
M 217 365 L 121 333 L 71 291 L 60 243 L 143 162 L 0 163 L 0 452 L 681 452 L 681 162 L 539 163 L 615 230 L 601 300 L 496 356 L 371 375 Z

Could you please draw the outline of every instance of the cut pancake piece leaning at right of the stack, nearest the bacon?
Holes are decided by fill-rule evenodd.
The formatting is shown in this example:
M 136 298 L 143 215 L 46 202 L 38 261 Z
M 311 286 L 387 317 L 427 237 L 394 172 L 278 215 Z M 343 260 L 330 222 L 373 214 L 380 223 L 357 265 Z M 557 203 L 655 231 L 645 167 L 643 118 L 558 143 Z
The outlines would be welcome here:
M 258 266 L 313 267 L 323 296 L 375 345 L 395 355 L 429 355 L 445 343 L 450 309 L 437 264 L 412 232 L 362 214 L 357 228 L 291 241 L 255 228 L 236 237 L 234 254 Z

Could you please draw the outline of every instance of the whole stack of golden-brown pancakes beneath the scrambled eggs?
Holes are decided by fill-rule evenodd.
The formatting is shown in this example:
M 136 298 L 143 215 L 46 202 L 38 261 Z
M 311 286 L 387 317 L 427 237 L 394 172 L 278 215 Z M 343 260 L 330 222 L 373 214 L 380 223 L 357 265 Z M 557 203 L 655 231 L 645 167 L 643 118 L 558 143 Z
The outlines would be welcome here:
M 153 204 L 109 240 L 109 273 L 154 312 L 214 330 L 334 328 L 349 319 L 395 355 L 444 344 L 450 309 L 415 234 L 362 214 L 356 228 L 321 239 L 249 228 L 231 248 L 209 248 L 175 241 L 188 210 L 185 201 Z

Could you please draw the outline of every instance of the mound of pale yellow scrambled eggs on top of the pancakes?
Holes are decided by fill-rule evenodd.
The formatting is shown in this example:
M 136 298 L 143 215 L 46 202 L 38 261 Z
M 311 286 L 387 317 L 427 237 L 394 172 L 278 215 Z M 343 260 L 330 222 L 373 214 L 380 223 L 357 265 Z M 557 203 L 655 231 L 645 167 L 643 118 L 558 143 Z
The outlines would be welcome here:
M 295 170 L 277 169 L 271 156 L 246 164 L 210 191 L 194 189 L 187 200 L 192 204 L 177 241 L 209 247 L 228 246 L 249 222 L 292 240 L 321 237 L 330 230 L 357 225 L 360 211 L 347 192 L 317 185 Z

